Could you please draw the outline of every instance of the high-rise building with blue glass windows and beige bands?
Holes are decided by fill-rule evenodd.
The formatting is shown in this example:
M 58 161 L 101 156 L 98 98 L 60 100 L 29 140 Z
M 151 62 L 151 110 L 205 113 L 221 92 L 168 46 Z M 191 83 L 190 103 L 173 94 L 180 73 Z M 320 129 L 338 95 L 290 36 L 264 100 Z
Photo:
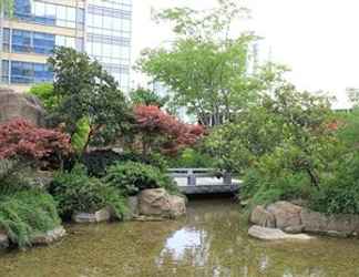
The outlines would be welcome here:
M 24 91 L 52 81 L 47 59 L 64 45 L 86 51 L 126 92 L 131 25 L 132 0 L 14 0 L 12 17 L 0 20 L 2 84 Z

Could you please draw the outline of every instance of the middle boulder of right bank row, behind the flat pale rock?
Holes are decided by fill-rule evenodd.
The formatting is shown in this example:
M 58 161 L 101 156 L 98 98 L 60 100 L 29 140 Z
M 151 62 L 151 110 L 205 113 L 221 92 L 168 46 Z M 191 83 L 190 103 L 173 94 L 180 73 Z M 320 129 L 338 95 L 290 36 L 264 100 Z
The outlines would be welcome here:
M 266 208 L 276 218 L 276 227 L 285 229 L 287 227 L 299 228 L 301 226 L 301 207 L 289 202 L 276 202 Z

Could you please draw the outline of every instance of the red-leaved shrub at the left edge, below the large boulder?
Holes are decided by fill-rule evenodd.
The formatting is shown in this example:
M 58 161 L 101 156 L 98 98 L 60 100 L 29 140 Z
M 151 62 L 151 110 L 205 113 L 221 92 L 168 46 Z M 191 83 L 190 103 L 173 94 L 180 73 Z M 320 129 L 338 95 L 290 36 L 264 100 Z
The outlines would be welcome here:
M 0 124 L 0 158 L 20 156 L 39 161 L 70 153 L 70 136 L 62 132 L 37 127 L 22 119 Z

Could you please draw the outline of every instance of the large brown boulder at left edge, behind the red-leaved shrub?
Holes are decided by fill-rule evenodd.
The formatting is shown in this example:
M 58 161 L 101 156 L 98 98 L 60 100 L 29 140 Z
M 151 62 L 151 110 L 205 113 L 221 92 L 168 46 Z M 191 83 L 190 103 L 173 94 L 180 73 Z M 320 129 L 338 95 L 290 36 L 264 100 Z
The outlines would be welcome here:
M 0 123 L 22 117 L 42 126 L 45 111 L 38 98 L 0 88 Z

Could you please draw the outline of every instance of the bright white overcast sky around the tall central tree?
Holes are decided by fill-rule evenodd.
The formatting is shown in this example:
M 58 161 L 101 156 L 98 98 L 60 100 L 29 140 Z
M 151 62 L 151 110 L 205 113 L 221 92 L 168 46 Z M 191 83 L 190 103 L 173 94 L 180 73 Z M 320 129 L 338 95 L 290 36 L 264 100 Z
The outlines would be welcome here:
M 152 8 L 215 4 L 215 0 L 134 0 L 132 61 L 142 49 L 171 40 L 170 28 L 151 20 Z M 246 7 L 252 19 L 238 22 L 238 34 L 249 28 L 264 38 L 261 59 L 288 65 L 288 79 L 298 89 L 322 90 L 336 95 L 336 107 L 348 107 L 346 88 L 359 88 L 358 0 L 246 0 Z M 134 73 L 133 80 L 145 79 Z

